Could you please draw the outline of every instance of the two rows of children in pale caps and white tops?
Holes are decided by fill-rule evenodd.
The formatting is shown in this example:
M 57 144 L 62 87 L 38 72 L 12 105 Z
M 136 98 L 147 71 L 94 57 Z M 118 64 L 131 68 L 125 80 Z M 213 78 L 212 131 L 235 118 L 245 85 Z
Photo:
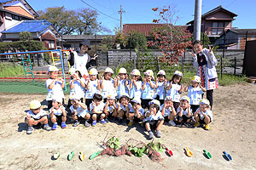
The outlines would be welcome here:
M 49 79 L 45 82 L 48 89 L 46 100 L 53 126 L 49 127 L 48 114 L 41 109 L 40 102 L 33 100 L 26 114 L 28 134 L 32 133 L 32 126 L 38 122 L 44 124 L 46 130 L 55 130 L 58 122 L 62 128 L 66 128 L 66 110 L 72 114 L 73 127 L 82 120 L 85 127 L 90 127 L 90 122 L 91 126 L 96 126 L 97 122 L 105 124 L 109 122 L 108 119 L 120 123 L 127 121 L 128 126 L 142 122 L 149 139 L 154 135 L 160 138 L 160 128 L 164 122 L 171 126 L 190 125 L 191 122 L 195 123 L 195 127 L 205 124 L 206 130 L 209 130 L 209 123 L 212 122 L 210 103 L 202 99 L 206 88 L 201 86 L 201 77 L 193 77 L 191 85 L 188 83 L 183 87 L 183 73 L 180 71 L 175 71 L 172 79 L 167 81 L 166 72 L 161 70 L 155 82 L 152 70 L 144 72 L 144 81 L 137 69 L 131 71 L 131 79 L 125 68 L 119 69 L 117 77 L 113 77 L 113 70 L 107 68 L 100 80 L 95 68 L 90 69 L 88 80 L 78 70 L 70 69 L 69 74 L 71 92 L 66 109 L 62 90 L 64 81 L 57 77 L 58 69 L 55 66 L 49 67 Z M 181 97 L 183 91 L 188 95 Z

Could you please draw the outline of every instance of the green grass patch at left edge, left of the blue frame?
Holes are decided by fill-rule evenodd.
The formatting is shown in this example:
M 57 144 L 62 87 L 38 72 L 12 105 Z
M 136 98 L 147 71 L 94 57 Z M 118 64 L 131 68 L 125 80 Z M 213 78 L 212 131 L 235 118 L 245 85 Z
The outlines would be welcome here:
M 0 77 L 21 77 L 25 72 L 22 65 L 13 63 L 0 63 Z

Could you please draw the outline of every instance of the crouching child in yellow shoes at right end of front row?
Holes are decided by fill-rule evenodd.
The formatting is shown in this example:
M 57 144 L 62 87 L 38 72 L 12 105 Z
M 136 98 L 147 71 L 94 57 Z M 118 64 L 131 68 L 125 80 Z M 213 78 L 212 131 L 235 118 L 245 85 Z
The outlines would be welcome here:
M 209 124 L 213 120 L 210 102 L 207 99 L 201 99 L 199 105 L 199 109 L 194 113 L 195 127 L 205 124 L 205 129 L 209 130 Z

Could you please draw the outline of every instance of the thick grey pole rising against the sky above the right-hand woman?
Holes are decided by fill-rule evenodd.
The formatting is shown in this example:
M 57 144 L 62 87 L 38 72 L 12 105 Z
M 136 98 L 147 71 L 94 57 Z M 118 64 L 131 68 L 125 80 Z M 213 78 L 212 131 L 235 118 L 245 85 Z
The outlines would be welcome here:
M 195 0 L 194 40 L 201 39 L 201 1 Z

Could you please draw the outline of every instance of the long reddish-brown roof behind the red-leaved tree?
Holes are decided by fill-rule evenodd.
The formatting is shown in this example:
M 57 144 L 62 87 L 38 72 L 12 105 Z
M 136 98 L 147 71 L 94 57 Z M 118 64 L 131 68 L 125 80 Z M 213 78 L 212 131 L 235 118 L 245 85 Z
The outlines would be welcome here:
M 123 26 L 123 33 L 127 35 L 130 33 L 131 30 L 137 31 L 144 36 L 148 37 L 149 32 L 153 31 L 154 28 L 165 26 L 165 24 L 125 24 Z M 184 26 L 187 27 L 187 26 Z

